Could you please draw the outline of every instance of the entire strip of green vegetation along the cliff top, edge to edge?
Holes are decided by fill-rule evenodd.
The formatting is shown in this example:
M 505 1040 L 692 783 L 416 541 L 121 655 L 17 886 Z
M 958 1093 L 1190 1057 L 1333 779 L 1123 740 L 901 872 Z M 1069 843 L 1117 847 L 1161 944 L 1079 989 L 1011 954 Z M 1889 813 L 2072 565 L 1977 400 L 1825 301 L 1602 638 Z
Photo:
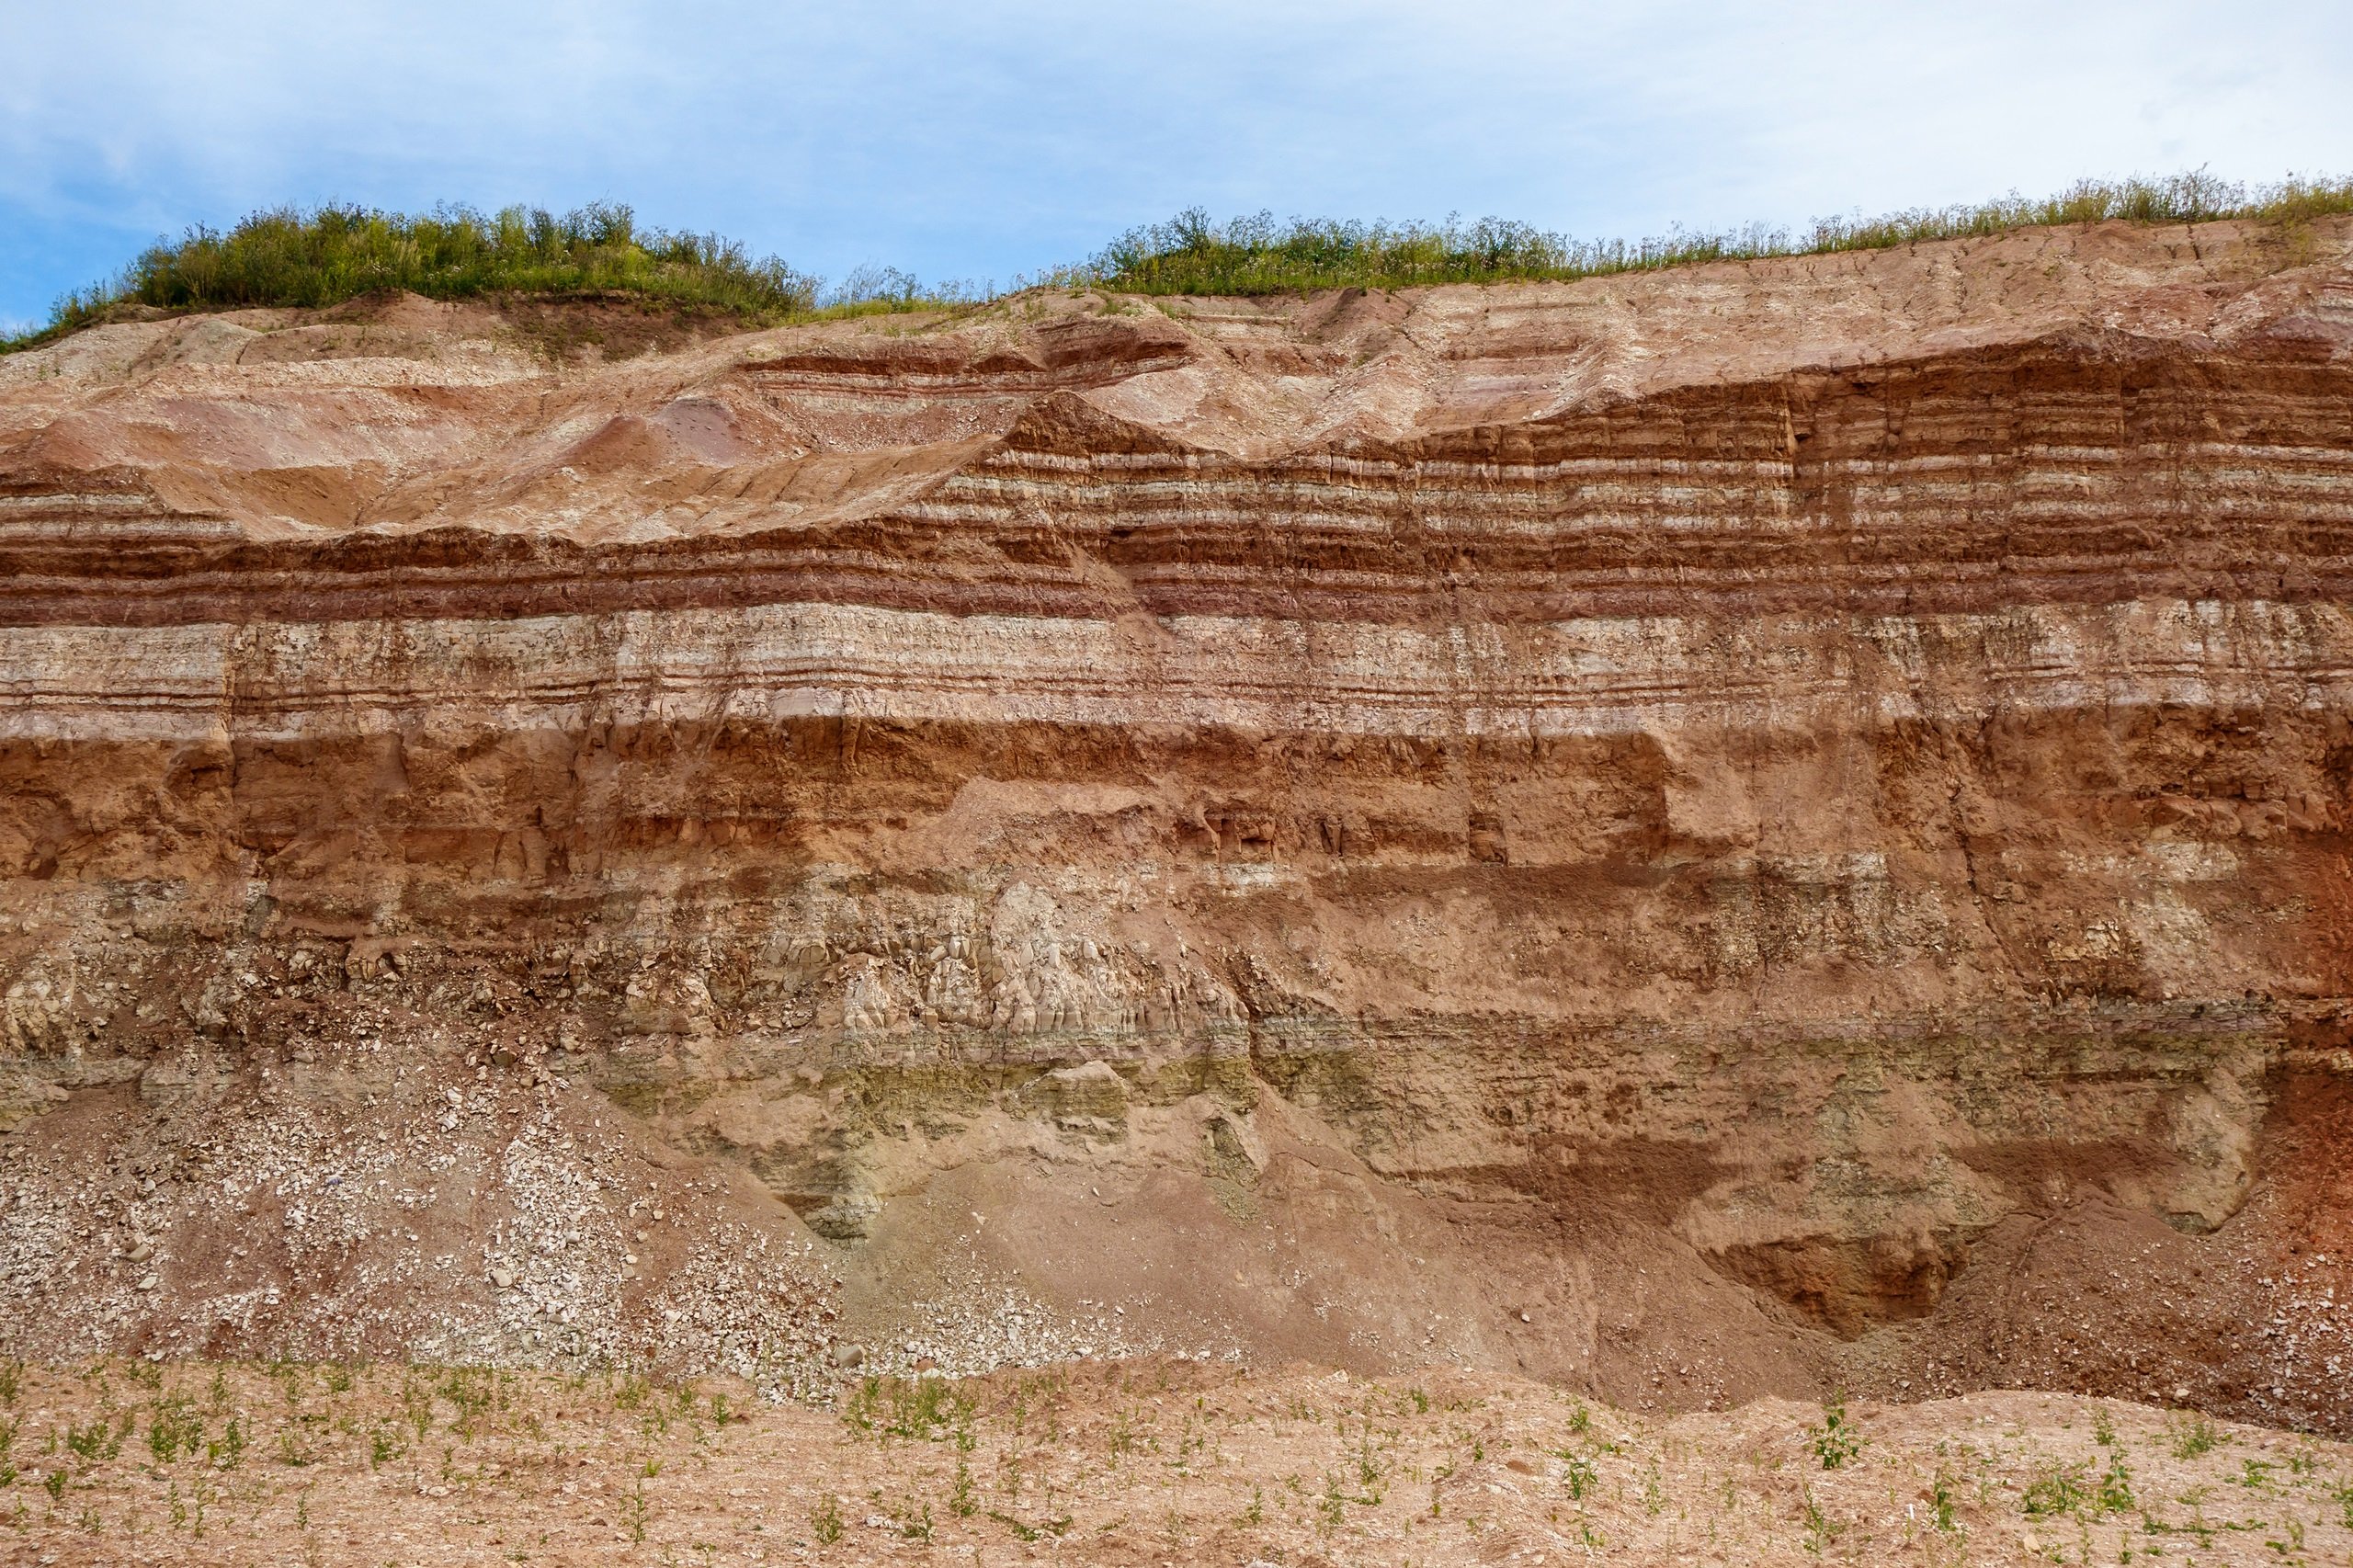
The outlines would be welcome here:
M 2353 179 L 2242 186 L 2209 174 L 2078 181 L 2059 195 L 2007 195 L 1974 207 L 1819 219 L 1812 228 L 1673 231 L 1649 240 L 1574 240 L 1508 219 L 1475 224 L 1355 224 L 1273 214 L 1212 221 L 1200 207 L 1132 228 L 1094 259 L 1035 283 L 1111 294 L 1280 294 L 1327 287 L 1398 290 L 1435 283 L 1525 283 L 1654 271 L 1701 261 L 1889 250 L 2052 224 L 2308 224 L 2353 212 Z M 628 207 L 562 217 L 508 207 L 280 207 L 219 233 L 158 240 L 113 283 L 56 301 L 49 323 L 0 353 L 47 344 L 134 308 L 172 313 L 249 306 L 332 306 L 409 290 L 431 299 L 628 297 L 744 325 L 826 315 L 927 311 L 993 299 L 967 285 L 925 287 L 896 268 L 859 268 L 835 287 L 774 257 L 753 259 L 718 235 L 640 228 Z

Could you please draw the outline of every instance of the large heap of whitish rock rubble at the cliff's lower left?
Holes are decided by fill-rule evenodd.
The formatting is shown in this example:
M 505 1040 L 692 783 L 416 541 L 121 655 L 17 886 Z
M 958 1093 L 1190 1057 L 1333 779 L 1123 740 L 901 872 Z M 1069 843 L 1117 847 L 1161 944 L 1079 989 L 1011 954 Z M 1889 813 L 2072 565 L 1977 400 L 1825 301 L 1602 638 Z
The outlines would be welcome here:
M 809 1243 L 701 1210 L 687 1257 L 638 1281 L 628 1189 L 649 1177 L 624 1137 L 522 1081 L 428 1088 L 431 1062 L 372 1071 L 365 1104 L 292 1092 L 271 1067 L 184 1074 L 205 1088 L 96 1180 L 0 1142 L 0 1344 L 40 1323 L 75 1354 L 645 1366 L 732 1373 L 776 1398 L 831 1387 L 838 1285 Z

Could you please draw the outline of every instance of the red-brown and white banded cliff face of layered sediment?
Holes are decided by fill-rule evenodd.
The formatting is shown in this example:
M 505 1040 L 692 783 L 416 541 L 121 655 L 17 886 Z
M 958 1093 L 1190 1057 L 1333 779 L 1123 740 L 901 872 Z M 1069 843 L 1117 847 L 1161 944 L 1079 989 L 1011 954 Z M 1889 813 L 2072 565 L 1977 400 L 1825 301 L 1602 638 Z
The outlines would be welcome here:
M 0 360 L 0 1340 L 2337 1424 L 2348 245 Z

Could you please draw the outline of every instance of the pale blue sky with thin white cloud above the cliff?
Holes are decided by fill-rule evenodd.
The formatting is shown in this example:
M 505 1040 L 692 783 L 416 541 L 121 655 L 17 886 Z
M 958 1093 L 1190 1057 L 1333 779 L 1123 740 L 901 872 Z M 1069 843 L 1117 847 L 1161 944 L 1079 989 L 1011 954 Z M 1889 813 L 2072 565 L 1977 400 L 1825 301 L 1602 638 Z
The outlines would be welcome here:
M 2353 172 L 2344 0 L 0 0 L 0 325 L 329 198 L 1005 283 L 1188 205 L 1642 235 Z

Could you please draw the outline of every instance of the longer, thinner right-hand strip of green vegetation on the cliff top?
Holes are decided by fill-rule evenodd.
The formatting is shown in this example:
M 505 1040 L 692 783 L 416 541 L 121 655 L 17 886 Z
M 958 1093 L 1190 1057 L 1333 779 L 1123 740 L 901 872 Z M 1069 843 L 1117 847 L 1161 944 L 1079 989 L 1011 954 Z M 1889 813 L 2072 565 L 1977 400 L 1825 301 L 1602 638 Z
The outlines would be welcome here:
M 1282 294 L 1292 290 L 1398 290 L 1433 283 L 1522 283 L 1593 278 L 1699 261 L 1889 250 L 1922 240 L 1998 235 L 2049 224 L 2205 224 L 2219 219 L 2311 221 L 2353 212 L 2353 179 L 2287 179 L 2242 186 L 2209 174 L 2078 181 L 2028 200 L 2007 195 L 1974 207 L 1892 212 L 1875 219 L 1819 219 L 1802 233 L 1748 226 L 1727 233 L 1675 231 L 1649 240 L 1572 240 L 1508 219 L 1475 224 L 1341 224 L 1273 214 L 1224 224 L 1202 210 L 1132 228 L 1085 268 L 1096 287 L 1127 294 Z

